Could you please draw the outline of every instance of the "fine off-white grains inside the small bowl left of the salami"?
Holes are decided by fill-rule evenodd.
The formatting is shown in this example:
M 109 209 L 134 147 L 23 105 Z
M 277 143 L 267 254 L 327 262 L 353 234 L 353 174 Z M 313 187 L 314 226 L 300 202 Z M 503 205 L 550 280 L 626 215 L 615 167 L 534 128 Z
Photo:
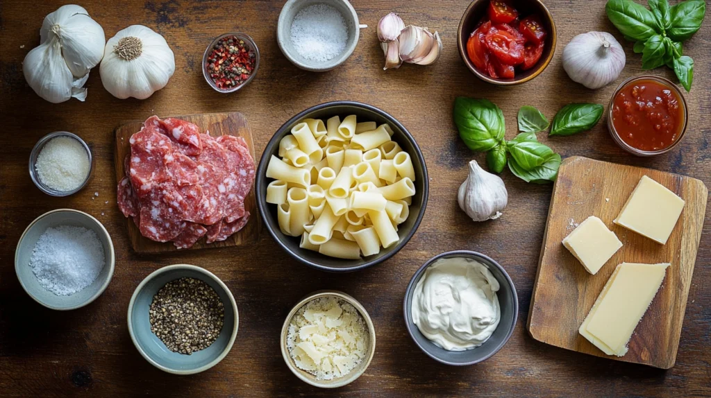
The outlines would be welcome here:
M 46 143 L 35 163 L 40 181 L 55 191 L 77 189 L 89 174 L 89 155 L 71 137 L 55 137 Z

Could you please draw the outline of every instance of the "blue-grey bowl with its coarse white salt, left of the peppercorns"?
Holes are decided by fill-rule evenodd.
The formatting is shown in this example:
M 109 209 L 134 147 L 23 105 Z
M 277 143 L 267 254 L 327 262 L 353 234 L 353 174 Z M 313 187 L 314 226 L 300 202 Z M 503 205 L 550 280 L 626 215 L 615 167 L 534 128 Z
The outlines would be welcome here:
M 25 292 L 50 309 L 77 309 L 99 297 L 114 275 L 114 244 L 97 219 L 73 209 L 39 216 L 15 250 Z

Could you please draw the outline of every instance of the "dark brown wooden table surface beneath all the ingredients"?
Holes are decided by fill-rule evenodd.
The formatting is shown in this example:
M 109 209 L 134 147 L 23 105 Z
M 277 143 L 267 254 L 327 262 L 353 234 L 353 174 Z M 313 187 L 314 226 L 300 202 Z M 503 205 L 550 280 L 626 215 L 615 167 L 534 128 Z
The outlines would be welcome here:
M 323 74 L 296 69 L 279 51 L 276 25 L 284 1 L 82 1 L 110 38 L 134 23 L 158 31 L 176 55 L 168 86 L 144 101 L 119 100 L 102 87 L 95 69 L 86 102 L 50 104 L 27 86 L 21 62 L 38 45 L 46 14 L 63 1 L 4 0 L 0 4 L 0 394 L 16 396 L 130 397 L 139 394 L 196 396 L 277 395 L 711 395 L 711 217 L 703 228 L 675 367 L 668 371 L 574 353 L 534 341 L 525 331 L 531 289 L 545 227 L 551 186 L 526 184 L 508 170 L 503 179 L 509 202 L 503 217 L 473 223 L 456 205 L 456 189 L 474 154 L 459 140 L 451 121 L 455 96 L 482 96 L 503 109 L 507 137 L 515 135 L 520 106 L 537 106 L 552 118 L 573 101 L 607 104 L 626 77 L 642 74 L 632 52 L 604 13 L 604 1 L 545 1 L 558 29 L 557 52 L 532 82 L 501 88 L 485 84 L 466 69 L 456 49 L 456 28 L 469 1 L 353 0 L 360 43 L 345 65 Z M 383 71 L 375 27 L 390 11 L 406 23 L 439 31 L 444 54 L 429 67 L 403 65 Z M 621 77 L 596 91 L 574 84 L 562 70 L 562 49 L 578 33 L 600 30 L 624 43 L 627 66 Z M 201 57 L 220 33 L 242 31 L 255 38 L 262 62 L 252 84 L 237 94 L 213 92 L 203 80 Z M 667 155 L 641 159 L 619 149 L 605 121 L 592 131 L 541 140 L 563 157 L 653 167 L 702 179 L 711 186 L 711 22 L 684 51 L 696 60 L 689 104 L 690 128 Z M 653 74 L 671 77 L 666 69 Z M 407 247 L 369 270 L 330 275 L 290 259 L 267 233 L 252 248 L 196 250 L 139 256 L 129 248 L 125 221 L 117 209 L 112 153 L 115 127 L 122 121 L 203 112 L 240 111 L 252 126 L 260 154 L 272 133 L 297 112 L 325 101 L 363 101 L 398 118 L 417 138 L 427 160 L 429 206 Z M 52 131 L 77 133 L 92 145 L 95 177 L 82 192 L 53 198 L 33 186 L 27 161 L 36 141 Z M 98 197 L 95 197 L 95 192 Z M 40 214 L 69 207 L 87 211 L 106 226 L 116 248 L 116 271 L 106 292 L 75 311 L 51 311 L 28 297 L 18 283 L 14 249 L 24 228 Z M 508 270 L 518 290 L 518 322 L 508 344 L 485 363 L 449 367 L 434 362 L 412 342 L 402 319 L 402 297 L 417 267 L 445 250 L 486 253 Z M 135 287 L 150 272 L 174 263 L 205 267 L 232 290 L 240 309 L 240 331 L 230 354 L 198 375 L 175 376 L 156 369 L 134 348 L 126 313 Z M 373 316 L 378 336 L 375 358 L 365 375 L 336 391 L 298 380 L 279 351 L 279 331 L 300 297 L 317 289 L 341 289 Z

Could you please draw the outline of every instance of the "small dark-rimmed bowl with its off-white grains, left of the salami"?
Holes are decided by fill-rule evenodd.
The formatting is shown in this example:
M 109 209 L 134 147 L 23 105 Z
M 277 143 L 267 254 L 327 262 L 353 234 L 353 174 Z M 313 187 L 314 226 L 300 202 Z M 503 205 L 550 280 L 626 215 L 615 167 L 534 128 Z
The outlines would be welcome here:
M 30 177 L 44 193 L 66 197 L 89 182 L 94 161 L 89 145 L 76 134 L 55 131 L 37 141 L 30 154 Z

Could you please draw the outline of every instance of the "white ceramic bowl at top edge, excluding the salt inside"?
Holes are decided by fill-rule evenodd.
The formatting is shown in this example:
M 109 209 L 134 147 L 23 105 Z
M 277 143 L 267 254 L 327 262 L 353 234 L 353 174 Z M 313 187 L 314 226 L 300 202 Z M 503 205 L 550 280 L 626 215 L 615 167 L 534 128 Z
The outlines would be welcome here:
M 346 49 L 328 61 L 308 60 L 299 55 L 299 52 L 294 48 L 294 43 L 292 43 L 292 22 L 294 21 L 294 16 L 304 7 L 313 4 L 326 4 L 338 10 L 341 16 L 343 16 L 343 21 L 346 22 L 346 27 L 348 28 Z M 279 13 L 279 22 L 277 23 L 277 43 L 279 43 L 279 48 L 289 61 L 303 70 L 326 72 L 346 62 L 348 57 L 353 54 L 355 45 L 358 45 L 358 37 L 360 37 L 358 14 L 355 13 L 355 9 L 353 9 L 353 6 L 351 6 L 348 0 L 287 0 L 282 7 L 282 12 Z

